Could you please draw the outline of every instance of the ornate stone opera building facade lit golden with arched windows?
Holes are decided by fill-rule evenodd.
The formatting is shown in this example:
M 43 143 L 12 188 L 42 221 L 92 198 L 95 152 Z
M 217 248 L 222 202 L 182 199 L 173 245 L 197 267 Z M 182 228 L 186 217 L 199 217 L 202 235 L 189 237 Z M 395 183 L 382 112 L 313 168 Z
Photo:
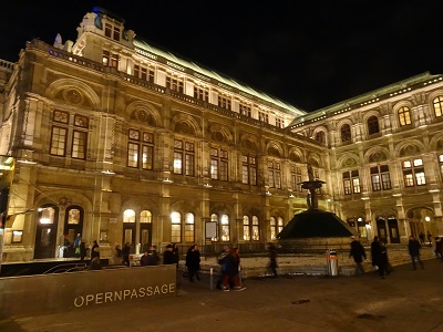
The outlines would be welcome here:
M 110 12 L 86 13 L 78 32 L 75 42 L 33 40 L 2 66 L 0 155 L 17 159 L 4 260 L 59 257 L 76 234 L 99 240 L 102 257 L 124 242 L 135 253 L 169 242 L 262 250 L 307 208 L 308 165 L 326 181 L 319 207 L 363 237 L 382 231 L 381 218 L 389 242 L 441 230 L 441 76 L 307 114 L 150 45 Z M 368 133 L 370 116 L 378 133 Z M 341 141 L 343 124 L 351 141 Z M 405 187 L 401 162 L 414 158 L 425 184 Z M 390 189 L 371 189 L 375 165 L 389 166 Z

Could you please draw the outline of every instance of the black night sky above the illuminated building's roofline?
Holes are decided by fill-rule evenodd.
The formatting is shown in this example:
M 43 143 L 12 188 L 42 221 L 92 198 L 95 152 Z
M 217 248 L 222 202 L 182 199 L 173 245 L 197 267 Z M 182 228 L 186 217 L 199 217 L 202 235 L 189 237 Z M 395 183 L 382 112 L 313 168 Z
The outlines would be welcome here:
M 94 6 L 152 44 L 307 112 L 443 73 L 442 0 L 35 1 L 0 4 L 0 59 L 32 38 L 75 40 Z

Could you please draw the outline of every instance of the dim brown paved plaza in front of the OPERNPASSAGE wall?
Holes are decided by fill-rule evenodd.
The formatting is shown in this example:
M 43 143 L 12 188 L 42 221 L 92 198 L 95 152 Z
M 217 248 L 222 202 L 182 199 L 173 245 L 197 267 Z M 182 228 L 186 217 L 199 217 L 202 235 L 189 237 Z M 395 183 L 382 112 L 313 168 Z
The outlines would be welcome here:
M 251 278 L 241 292 L 178 276 L 174 298 L 3 319 L 0 331 L 443 331 L 443 263 L 424 264 L 395 266 L 387 279 Z

